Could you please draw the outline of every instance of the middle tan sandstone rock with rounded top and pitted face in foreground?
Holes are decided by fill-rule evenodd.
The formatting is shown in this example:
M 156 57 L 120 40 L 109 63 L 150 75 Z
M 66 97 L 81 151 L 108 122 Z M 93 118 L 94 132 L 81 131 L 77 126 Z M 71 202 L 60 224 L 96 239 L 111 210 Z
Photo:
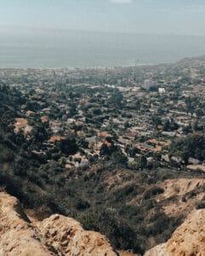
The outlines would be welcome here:
M 83 230 L 73 218 L 55 214 L 38 224 L 46 245 L 57 255 L 115 256 L 105 236 L 94 231 Z

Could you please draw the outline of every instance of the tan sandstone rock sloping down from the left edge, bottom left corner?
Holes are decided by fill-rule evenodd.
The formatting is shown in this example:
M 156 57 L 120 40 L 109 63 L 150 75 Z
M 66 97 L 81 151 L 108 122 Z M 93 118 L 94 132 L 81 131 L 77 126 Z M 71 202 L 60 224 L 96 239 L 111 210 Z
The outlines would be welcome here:
M 29 222 L 20 207 L 20 202 L 0 193 L 0 255 L 3 256 L 47 256 L 39 230 Z

